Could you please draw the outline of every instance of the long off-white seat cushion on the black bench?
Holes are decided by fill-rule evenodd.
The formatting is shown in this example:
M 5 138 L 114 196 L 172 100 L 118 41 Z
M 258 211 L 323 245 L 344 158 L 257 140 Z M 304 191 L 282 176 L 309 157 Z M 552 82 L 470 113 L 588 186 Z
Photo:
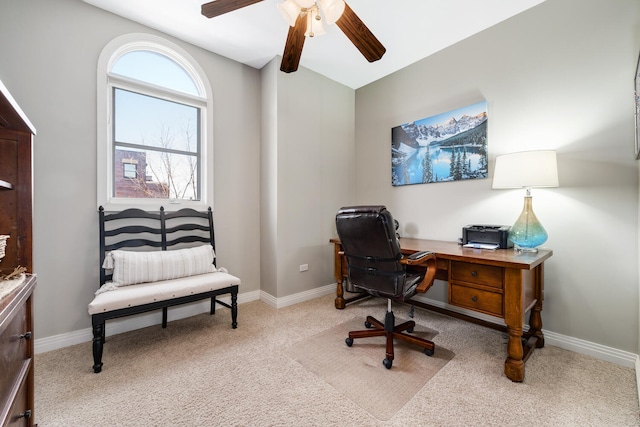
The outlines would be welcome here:
M 231 285 L 240 285 L 240 279 L 229 273 L 217 271 L 173 280 L 118 287 L 96 295 L 89 304 L 89 314 L 105 313 L 155 301 L 166 301 L 214 291 Z

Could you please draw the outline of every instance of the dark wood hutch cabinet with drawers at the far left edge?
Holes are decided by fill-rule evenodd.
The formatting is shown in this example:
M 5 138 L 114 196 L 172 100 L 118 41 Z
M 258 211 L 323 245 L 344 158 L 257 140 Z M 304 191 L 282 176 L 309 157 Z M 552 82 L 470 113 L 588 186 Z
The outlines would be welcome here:
M 22 266 L 33 273 L 35 129 L 0 81 L 0 235 L 8 235 L 0 274 Z M 36 276 L 0 281 L 0 426 L 32 426 L 33 290 Z

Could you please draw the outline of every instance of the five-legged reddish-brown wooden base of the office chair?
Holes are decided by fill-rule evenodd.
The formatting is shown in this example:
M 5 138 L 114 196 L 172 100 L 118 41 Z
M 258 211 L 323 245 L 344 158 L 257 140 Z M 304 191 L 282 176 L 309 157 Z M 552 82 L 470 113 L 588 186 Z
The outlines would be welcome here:
M 364 325 L 368 329 L 349 332 L 349 337 L 345 340 L 346 344 L 351 347 L 354 339 L 386 336 L 386 358 L 382 363 L 387 369 L 390 369 L 393 365 L 393 341 L 395 339 L 423 347 L 427 356 L 433 356 L 435 352 L 435 344 L 432 341 L 408 334 L 413 332 L 416 322 L 409 320 L 396 326 L 393 311 L 387 311 L 384 324 L 372 316 L 367 316 Z M 408 333 L 405 333 L 405 331 Z

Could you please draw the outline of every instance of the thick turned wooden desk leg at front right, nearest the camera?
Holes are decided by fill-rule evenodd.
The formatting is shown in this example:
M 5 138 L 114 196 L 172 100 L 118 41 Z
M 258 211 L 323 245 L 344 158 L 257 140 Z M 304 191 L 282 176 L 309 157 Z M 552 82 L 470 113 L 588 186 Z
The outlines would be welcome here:
M 515 268 L 505 268 L 505 316 L 509 334 L 507 360 L 504 373 L 515 382 L 524 380 L 524 351 L 522 348 L 522 272 Z

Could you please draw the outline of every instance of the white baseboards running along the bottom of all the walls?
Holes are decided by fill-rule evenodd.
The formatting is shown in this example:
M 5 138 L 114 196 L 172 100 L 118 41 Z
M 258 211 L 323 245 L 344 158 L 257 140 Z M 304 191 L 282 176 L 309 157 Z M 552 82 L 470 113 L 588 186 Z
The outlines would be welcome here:
M 289 295 L 282 298 L 276 298 L 264 291 L 252 291 L 238 294 L 238 304 L 245 302 L 262 300 L 266 304 L 274 308 L 283 308 L 300 302 L 308 301 L 314 298 L 318 298 L 324 295 L 334 293 L 336 289 L 335 284 L 322 286 L 320 288 L 311 289 L 308 291 L 300 292 L 294 295 Z M 221 298 L 226 303 L 230 303 L 230 297 Z M 472 316 L 487 322 L 504 325 L 504 321 L 498 317 L 477 313 L 471 310 L 465 310 L 463 308 L 451 306 L 441 301 L 425 298 L 424 296 L 415 297 L 418 301 L 422 301 L 427 304 L 431 304 L 435 307 L 446 308 L 451 311 L 455 311 L 461 314 Z M 180 307 L 173 307 L 169 310 L 169 320 L 183 319 L 190 316 L 195 316 L 201 313 L 207 313 L 209 311 L 209 301 L 201 301 L 194 304 L 188 304 Z M 162 315 L 158 312 L 152 312 L 142 314 L 138 316 L 128 316 L 122 319 L 114 319 L 106 324 L 106 335 L 120 334 L 123 332 L 132 331 L 135 329 L 144 328 L 147 326 L 159 325 L 162 322 Z M 525 326 L 526 330 L 526 326 Z M 636 376 L 638 377 L 639 391 L 640 391 L 640 358 L 637 354 L 630 353 L 623 350 L 607 347 L 601 344 L 592 343 L 589 341 L 581 340 L 578 338 L 569 337 L 566 335 L 558 334 L 552 331 L 543 329 L 545 336 L 545 343 L 556 347 L 564 348 L 565 350 L 574 351 L 576 353 L 593 356 L 597 359 L 606 360 L 608 362 L 615 363 L 617 365 L 625 366 L 628 368 L 636 369 Z M 91 328 L 83 329 L 80 331 L 67 332 L 65 334 L 54 335 L 51 337 L 36 339 L 34 342 L 34 350 L 37 353 L 44 353 L 51 350 L 67 347 L 70 345 L 81 344 L 91 341 L 93 334 Z

